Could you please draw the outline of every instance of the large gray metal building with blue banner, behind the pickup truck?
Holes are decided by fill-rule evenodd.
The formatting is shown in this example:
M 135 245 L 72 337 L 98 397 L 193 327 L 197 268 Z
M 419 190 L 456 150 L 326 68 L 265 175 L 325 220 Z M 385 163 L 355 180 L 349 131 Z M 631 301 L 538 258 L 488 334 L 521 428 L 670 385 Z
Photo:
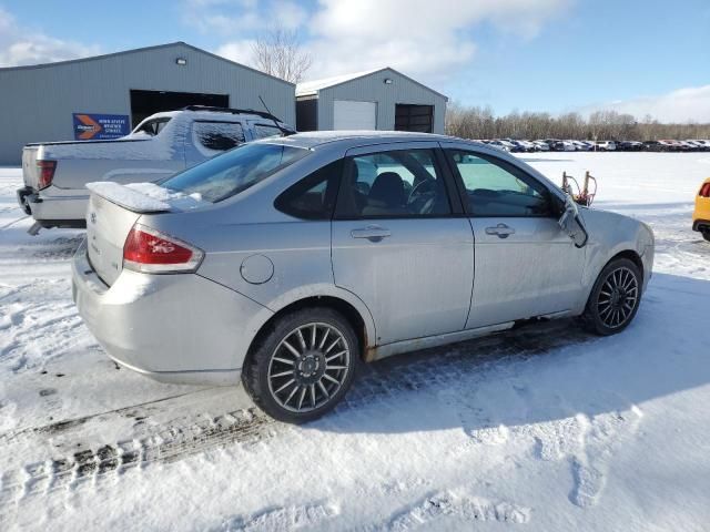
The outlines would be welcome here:
M 20 164 L 30 142 L 74 140 L 74 113 L 123 116 L 132 127 L 190 104 L 263 110 L 258 96 L 295 123 L 294 84 L 184 42 L 0 69 L 0 164 Z

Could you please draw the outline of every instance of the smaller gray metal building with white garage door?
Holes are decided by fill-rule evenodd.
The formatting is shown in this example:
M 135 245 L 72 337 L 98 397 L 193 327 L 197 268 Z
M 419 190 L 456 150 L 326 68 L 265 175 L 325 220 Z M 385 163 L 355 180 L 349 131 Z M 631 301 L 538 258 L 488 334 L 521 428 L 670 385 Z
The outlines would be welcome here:
M 390 68 L 300 83 L 296 129 L 444 133 L 444 94 Z

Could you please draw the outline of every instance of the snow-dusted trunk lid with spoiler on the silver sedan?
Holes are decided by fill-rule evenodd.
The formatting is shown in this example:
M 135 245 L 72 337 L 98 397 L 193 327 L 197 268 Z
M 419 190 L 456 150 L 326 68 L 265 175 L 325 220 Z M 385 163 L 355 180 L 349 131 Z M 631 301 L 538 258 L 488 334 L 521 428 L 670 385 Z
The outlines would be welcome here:
M 111 286 L 123 269 L 123 245 L 142 214 L 183 212 L 210 205 L 196 195 L 186 196 L 153 183 L 120 185 L 89 183 L 87 253 L 99 277 Z

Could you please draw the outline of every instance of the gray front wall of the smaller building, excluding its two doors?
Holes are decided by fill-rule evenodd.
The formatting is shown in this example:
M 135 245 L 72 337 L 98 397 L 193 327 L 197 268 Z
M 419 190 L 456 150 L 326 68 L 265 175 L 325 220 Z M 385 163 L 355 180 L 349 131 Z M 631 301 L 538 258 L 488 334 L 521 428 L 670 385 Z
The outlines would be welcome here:
M 385 84 L 385 78 L 389 78 L 392 84 Z M 318 92 L 318 130 L 333 129 L 334 100 L 377 102 L 378 130 L 395 129 L 397 103 L 434 105 L 434 133 L 444 133 L 446 98 L 392 70 L 322 89 Z

